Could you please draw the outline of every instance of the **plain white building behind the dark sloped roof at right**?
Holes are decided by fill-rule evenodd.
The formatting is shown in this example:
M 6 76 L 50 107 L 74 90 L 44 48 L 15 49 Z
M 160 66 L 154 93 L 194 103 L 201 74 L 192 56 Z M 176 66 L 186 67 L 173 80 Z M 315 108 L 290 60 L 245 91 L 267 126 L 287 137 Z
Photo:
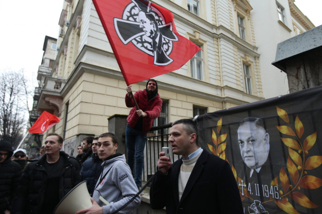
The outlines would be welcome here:
M 277 44 L 315 26 L 295 5 L 294 0 L 250 0 L 264 98 L 289 93 L 285 72 L 273 66 Z

